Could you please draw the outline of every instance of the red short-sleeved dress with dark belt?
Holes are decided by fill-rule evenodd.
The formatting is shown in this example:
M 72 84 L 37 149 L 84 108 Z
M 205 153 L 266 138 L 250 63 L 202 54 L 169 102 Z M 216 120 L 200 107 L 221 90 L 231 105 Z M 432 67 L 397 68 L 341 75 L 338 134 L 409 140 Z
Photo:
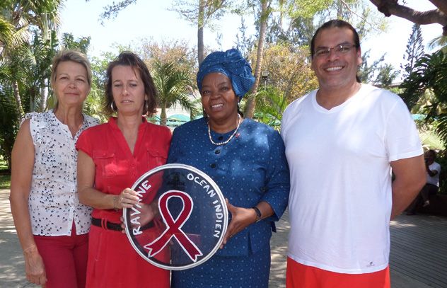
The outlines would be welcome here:
M 108 123 L 86 129 L 76 149 L 95 163 L 95 189 L 119 195 L 142 174 L 166 163 L 170 138 L 168 128 L 144 119 L 132 154 L 117 119 L 111 117 Z M 121 210 L 114 209 L 93 209 L 92 213 L 114 223 L 120 223 L 121 215 Z M 87 287 L 169 287 L 169 271 L 141 258 L 120 231 L 91 226 L 88 249 Z

